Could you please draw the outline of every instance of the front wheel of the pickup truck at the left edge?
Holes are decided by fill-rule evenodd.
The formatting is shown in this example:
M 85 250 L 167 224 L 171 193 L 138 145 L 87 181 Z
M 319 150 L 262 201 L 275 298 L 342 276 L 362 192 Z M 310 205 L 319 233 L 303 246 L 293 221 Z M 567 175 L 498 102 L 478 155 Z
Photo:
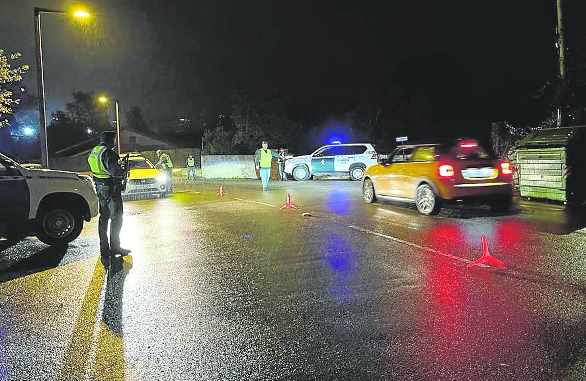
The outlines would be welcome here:
M 48 245 L 70 243 L 83 230 L 81 213 L 57 205 L 43 208 L 38 223 L 37 238 Z

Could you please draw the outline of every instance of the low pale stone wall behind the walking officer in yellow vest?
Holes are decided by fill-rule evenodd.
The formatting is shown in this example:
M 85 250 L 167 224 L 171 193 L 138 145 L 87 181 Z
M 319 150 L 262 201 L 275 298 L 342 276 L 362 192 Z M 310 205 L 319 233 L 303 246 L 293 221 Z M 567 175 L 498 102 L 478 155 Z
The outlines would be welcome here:
M 254 155 L 202 155 L 204 179 L 260 179 Z M 279 178 L 277 159 L 272 159 L 271 179 Z

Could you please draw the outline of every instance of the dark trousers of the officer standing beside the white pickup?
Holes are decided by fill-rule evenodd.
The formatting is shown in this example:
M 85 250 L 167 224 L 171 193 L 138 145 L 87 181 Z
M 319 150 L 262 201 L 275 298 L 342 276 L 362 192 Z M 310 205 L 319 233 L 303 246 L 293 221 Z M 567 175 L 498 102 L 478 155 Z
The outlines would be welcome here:
M 98 234 L 100 235 L 101 254 L 108 255 L 110 251 L 120 249 L 120 230 L 122 229 L 122 194 L 120 182 L 113 179 L 106 181 L 96 180 L 96 193 L 100 202 L 100 219 L 98 220 Z M 110 244 L 108 244 L 108 221 L 110 223 Z

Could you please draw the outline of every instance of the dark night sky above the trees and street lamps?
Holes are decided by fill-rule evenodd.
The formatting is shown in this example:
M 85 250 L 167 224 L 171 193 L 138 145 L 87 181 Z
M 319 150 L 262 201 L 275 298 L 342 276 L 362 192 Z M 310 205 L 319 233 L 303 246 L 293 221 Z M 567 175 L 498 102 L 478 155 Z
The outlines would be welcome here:
M 584 18 L 586 2 L 566 3 L 568 18 Z M 32 91 L 33 7 L 71 4 L 0 2 L 0 47 L 33 64 Z M 556 0 L 85 4 L 95 16 L 81 28 L 43 15 L 49 111 L 72 91 L 104 91 L 156 128 L 182 114 L 229 113 L 231 89 L 258 87 L 290 96 L 317 123 L 394 83 L 423 94 L 437 123 L 529 124 L 532 94 L 556 76 Z

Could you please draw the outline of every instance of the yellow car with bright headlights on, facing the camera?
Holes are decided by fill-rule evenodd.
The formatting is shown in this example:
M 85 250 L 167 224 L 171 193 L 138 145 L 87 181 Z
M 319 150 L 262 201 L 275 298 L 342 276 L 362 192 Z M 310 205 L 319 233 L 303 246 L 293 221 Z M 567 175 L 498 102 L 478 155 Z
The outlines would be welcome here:
M 125 154 L 121 156 L 124 157 Z M 152 162 L 138 153 L 128 155 L 130 175 L 126 189 L 122 192 L 124 200 L 168 196 L 167 176 L 155 168 Z

